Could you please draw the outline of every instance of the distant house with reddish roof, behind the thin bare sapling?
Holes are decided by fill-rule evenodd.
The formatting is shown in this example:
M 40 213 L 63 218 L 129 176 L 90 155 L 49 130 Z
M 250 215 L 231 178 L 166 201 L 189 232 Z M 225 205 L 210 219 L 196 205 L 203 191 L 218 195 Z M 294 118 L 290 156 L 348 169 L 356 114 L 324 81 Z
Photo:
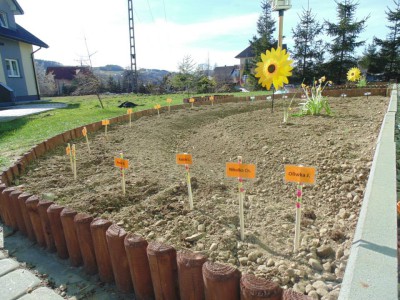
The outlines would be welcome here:
M 57 94 L 63 95 L 66 88 L 70 87 L 75 76 L 79 73 L 90 73 L 89 67 L 47 67 L 46 75 L 53 74 L 57 87 Z

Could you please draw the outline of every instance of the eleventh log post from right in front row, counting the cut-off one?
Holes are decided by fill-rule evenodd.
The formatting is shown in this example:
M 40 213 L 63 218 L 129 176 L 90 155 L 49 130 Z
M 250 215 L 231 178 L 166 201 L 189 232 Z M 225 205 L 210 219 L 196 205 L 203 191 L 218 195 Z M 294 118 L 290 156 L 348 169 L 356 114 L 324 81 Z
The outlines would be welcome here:
M 49 216 L 50 228 L 56 245 L 57 255 L 59 258 L 67 259 L 69 254 L 60 216 L 63 209 L 64 206 L 52 204 L 47 209 L 47 215 Z

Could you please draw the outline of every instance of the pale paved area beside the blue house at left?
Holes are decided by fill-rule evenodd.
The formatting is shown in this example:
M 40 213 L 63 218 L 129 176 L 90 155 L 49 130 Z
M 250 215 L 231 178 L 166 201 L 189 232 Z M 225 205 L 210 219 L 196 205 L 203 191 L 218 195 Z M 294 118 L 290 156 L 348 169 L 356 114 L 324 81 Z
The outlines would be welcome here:
M 64 107 L 67 107 L 67 104 L 64 103 L 26 104 L 26 105 L 4 107 L 1 108 L 0 110 L 0 122 L 7 122 L 28 115 L 38 114 L 44 111 L 56 108 L 64 108 Z

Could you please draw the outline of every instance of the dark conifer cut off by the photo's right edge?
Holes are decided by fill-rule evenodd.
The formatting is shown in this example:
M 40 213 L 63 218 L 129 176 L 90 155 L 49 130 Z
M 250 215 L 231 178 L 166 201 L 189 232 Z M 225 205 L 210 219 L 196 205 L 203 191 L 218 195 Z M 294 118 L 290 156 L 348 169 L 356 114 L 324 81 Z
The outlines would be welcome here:
M 375 42 L 381 47 L 380 58 L 385 65 L 385 73 L 388 79 L 399 78 L 400 74 L 400 1 L 393 0 L 395 9 L 388 7 L 387 20 L 390 25 L 386 40 L 375 38 Z

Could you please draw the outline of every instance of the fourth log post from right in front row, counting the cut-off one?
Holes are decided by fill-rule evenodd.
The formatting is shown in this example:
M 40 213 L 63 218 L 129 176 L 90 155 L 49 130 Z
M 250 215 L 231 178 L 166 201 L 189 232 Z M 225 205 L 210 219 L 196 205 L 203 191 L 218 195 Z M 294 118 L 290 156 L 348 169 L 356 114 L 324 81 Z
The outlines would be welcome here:
M 181 299 L 203 300 L 203 264 L 207 258 L 199 253 L 180 250 L 176 255 Z

